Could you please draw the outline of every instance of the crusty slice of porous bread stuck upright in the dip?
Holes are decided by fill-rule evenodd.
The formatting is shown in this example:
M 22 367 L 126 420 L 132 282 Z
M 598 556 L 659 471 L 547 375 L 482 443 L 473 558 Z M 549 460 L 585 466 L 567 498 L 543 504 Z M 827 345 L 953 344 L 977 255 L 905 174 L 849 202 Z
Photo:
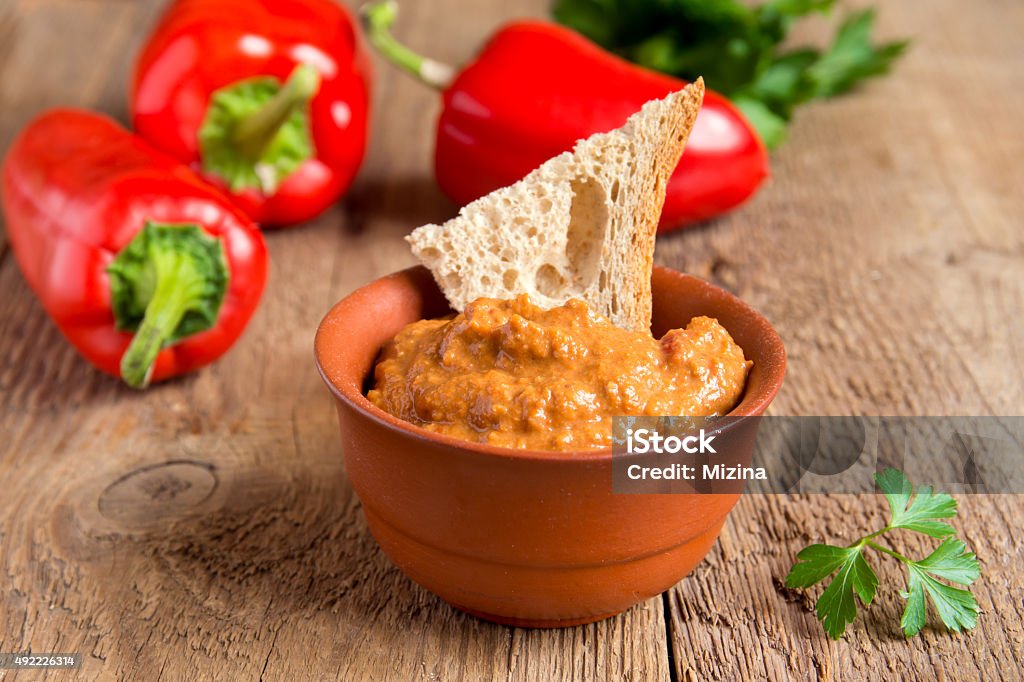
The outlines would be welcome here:
M 414 230 L 413 252 L 456 310 L 481 296 L 580 298 L 618 327 L 649 329 L 654 232 L 702 99 L 697 79 L 647 102 L 622 128 Z

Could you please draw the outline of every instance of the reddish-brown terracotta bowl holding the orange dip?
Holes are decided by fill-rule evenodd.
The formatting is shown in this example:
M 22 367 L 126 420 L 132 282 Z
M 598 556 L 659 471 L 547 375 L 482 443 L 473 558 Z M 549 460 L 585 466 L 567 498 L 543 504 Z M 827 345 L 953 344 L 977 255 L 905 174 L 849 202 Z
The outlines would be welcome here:
M 694 315 L 717 317 L 754 360 L 731 414 L 763 413 L 785 368 L 768 322 L 728 292 L 680 272 L 655 268 L 652 285 L 655 336 Z M 471 443 L 367 400 L 381 346 L 406 325 L 449 312 L 429 272 L 415 267 L 354 292 L 316 333 L 316 364 L 335 396 L 348 476 L 384 553 L 453 606 L 526 627 L 599 621 L 689 573 L 738 492 L 615 495 L 610 450 Z M 734 459 L 749 459 L 752 430 L 733 429 L 727 447 Z

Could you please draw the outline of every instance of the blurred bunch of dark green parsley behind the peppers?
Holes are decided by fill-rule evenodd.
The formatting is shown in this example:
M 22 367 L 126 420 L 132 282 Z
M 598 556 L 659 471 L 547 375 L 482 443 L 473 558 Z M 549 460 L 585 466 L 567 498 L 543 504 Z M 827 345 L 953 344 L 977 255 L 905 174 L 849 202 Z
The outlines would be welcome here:
M 794 110 L 842 94 L 889 71 L 906 41 L 876 44 L 874 10 L 855 11 L 831 42 L 784 45 L 800 18 L 835 0 L 555 0 L 555 18 L 597 44 L 648 69 L 686 80 L 703 76 L 729 97 L 774 148 Z

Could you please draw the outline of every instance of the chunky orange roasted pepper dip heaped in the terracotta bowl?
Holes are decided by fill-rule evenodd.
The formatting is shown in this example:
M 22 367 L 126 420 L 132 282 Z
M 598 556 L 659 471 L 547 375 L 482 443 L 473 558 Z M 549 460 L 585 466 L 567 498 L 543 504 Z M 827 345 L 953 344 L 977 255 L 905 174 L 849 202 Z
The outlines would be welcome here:
M 479 298 L 406 327 L 377 365 L 371 402 L 425 429 L 531 450 L 611 445 L 614 416 L 729 412 L 752 363 L 718 321 L 660 340 L 585 302 L 544 309 L 525 295 Z

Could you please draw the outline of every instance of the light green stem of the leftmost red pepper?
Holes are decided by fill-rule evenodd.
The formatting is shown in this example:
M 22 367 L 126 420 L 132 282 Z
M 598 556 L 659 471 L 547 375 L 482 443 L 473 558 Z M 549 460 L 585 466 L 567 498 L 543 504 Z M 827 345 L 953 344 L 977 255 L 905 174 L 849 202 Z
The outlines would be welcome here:
M 203 295 L 204 278 L 187 253 L 170 252 L 157 260 L 153 298 L 121 356 L 121 378 L 132 388 L 150 385 L 157 355 L 174 335 L 185 312 Z

